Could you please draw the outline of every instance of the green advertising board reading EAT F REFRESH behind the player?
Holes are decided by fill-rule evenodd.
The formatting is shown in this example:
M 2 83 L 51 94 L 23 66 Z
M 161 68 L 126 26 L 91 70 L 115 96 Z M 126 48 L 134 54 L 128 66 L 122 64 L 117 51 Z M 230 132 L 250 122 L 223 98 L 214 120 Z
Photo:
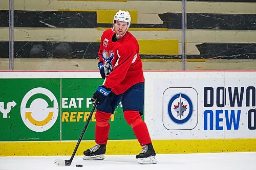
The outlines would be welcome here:
M 99 78 L 0 79 L 0 141 L 77 140 L 91 112 Z M 83 140 L 94 140 L 95 113 Z M 136 139 L 121 104 L 109 139 Z

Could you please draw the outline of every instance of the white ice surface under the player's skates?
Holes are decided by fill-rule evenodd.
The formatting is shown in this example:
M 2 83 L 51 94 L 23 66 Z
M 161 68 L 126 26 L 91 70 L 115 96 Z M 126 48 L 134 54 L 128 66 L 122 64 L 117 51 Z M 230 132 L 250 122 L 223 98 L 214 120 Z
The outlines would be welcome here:
M 87 169 L 87 170 L 254 170 L 256 169 L 256 152 L 207 153 L 207 154 L 158 154 L 157 164 L 141 165 L 135 155 L 105 155 L 104 160 L 85 161 L 82 156 L 75 156 L 70 166 L 58 166 L 54 159 L 69 160 L 70 156 L 27 156 L 0 157 L 1 170 L 41 170 L 41 169 Z M 82 164 L 82 167 L 76 167 Z

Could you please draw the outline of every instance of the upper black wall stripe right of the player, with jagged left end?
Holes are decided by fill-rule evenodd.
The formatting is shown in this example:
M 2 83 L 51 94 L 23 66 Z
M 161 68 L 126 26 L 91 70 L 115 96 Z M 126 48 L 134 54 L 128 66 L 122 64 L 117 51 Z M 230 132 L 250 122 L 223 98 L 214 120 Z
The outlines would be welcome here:
M 181 13 L 158 15 L 169 29 L 181 29 Z M 256 14 L 187 13 L 187 29 L 256 30 Z

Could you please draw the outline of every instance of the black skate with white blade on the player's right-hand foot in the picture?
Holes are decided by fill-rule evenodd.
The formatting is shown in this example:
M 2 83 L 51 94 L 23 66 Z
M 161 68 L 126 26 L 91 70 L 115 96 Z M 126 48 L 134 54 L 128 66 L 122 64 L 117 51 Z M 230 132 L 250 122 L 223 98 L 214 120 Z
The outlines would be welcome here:
M 153 148 L 152 143 L 148 143 L 143 146 L 141 153 L 139 155 L 136 155 L 136 158 L 138 159 L 138 163 L 140 164 L 153 164 L 157 163 L 155 156 L 156 152 Z

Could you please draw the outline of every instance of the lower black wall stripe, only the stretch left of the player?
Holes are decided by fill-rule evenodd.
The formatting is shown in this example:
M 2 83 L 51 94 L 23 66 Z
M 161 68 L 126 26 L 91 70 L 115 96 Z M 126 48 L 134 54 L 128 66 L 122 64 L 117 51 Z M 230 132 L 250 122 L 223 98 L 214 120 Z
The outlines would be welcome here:
M 0 58 L 8 58 L 8 41 L 0 41 Z M 14 42 L 15 58 L 84 58 L 98 57 L 98 42 Z

